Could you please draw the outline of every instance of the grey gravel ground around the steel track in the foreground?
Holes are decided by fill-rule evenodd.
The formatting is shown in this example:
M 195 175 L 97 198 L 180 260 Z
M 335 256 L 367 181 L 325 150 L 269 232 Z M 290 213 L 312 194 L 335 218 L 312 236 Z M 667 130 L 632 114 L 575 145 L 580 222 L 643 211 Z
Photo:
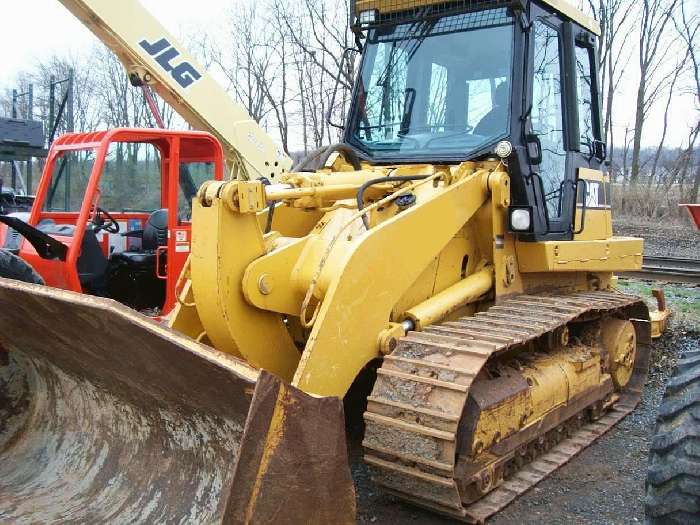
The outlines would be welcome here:
M 679 352 L 700 346 L 700 332 L 671 328 L 654 345 L 652 369 L 637 409 L 578 457 L 488 521 L 489 525 L 628 524 L 644 521 L 649 440 L 666 379 Z M 381 493 L 351 442 L 358 522 L 453 523 Z

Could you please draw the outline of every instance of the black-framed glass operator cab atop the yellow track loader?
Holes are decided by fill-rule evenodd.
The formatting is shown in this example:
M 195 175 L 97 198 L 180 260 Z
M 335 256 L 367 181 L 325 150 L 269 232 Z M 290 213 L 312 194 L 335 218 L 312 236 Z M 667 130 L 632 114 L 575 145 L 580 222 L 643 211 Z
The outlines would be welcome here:
M 344 140 L 360 158 L 455 164 L 502 143 L 520 240 L 607 238 L 594 21 L 550 0 L 352 9 L 362 60 Z

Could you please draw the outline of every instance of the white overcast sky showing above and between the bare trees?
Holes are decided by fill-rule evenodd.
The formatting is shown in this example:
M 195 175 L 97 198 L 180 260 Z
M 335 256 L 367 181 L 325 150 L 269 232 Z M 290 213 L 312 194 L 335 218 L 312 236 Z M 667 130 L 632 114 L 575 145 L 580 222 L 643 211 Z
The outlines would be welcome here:
M 118 1 L 118 0 L 113 0 Z M 227 8 L 236 0 L 141 0 L 142 3 L 175 35 L 191 34 L 195 29 L 209 31 L 221 28 Z M 0 87 L 13 87 L 22 70 L 29 70 L 37 60 L 52 54 L 80 53 L 89 49 L 97 39 L 57 0 L 0 0 L 2 28 L 0 29 Z M 187 42 L 183 42 L 187 46 Z M 628 65 L 635 69 L 635 56 Z M 633 74 L 624 83 L 616 98 L 615 125 L 617 144 L 621 143 L 626 125 L 631 127 L 634 116 L 636 79 Z M 662 103 L 650 116 L 644 143 L 655 145 L 661 135 Z M 691 95 L 678 96 L 671 107 L 668 145 L 678 145 L 687 137 L 696 119 Z

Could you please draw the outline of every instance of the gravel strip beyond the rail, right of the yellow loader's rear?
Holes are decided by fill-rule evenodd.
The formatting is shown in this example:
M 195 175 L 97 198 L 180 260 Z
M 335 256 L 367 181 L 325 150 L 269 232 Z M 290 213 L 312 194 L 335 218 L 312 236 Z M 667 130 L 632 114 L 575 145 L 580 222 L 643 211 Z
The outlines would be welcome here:
M 643 237 L 644 253 L 657 257 L 700 259 L 700 231 L 684 221 L 613 221 L 615 235 Z

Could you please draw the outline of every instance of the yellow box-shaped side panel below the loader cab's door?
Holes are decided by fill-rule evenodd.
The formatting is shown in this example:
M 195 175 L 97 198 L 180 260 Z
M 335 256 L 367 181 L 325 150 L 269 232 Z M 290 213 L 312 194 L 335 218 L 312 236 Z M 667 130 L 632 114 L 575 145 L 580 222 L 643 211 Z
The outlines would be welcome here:
M 642 239 L 516 242 L 518 266 L 531 272 L 621 272 L 642 267 Z

